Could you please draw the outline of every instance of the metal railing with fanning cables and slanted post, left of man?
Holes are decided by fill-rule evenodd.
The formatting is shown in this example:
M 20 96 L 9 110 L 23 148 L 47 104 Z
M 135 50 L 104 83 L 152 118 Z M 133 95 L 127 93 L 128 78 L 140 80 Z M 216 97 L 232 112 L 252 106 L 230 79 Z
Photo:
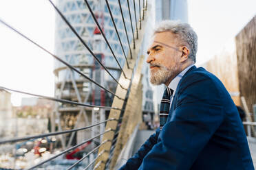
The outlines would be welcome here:
M 131 121 L 131 117 L 128 116 L 128 112 L 141 111 L 140 110 L 141 109 L 140 105 L 137 104 L 137 106 L 133 107 L 133 106 L 131 106 L 131 104 L 133 104 L 131 102 L 135 101 L 133 97 L 134 97 L 134 93 L 136 93 L 136 90 L 140 90 L 140 92 L 141 92 L 141 88 L 142 88 L 141 80 L 140 80 L 141 79 L 142 57 L 138 58 L 138 53 L 139 53 L 140 45 L 142 44 L 142 38 L 143 38 L 143 34 L 144 34 L 143 31 L 145 29 L 145 23 L 146 23 L 145 19 L 147 19 L 147 17 L 146 17 L 147 1 L 145 2 L 145 0 L 143 0 L 142 4 L 141 4 L 141 1 L 138 1 L 139 4 L 136 5 L 136 1 L 134 0 L 133 1 L 134 9 L 131 10 L 129 0 L 126 1 L 127 4 L 122 4 L 122 5 L 120 3 L 120 0 L 118 0 L 118 4 L 119 4 L 119 8 L 120 8 L 120 14 L 122 16 L 122 23 L 123 23 L 123 26 L 125 28 L 125 34 L 126 34 L 126 38 L 127 38 L 126 43 L 129 44 L 129 53 L 126 54 L 125 50 L 123 48 L 123 45 L 122 45 L 125 42 L 122 42 L 122 40 L 120 39 L 120 35 L 118 33 L 118 29 L 116 28 L 116 23 L 114 21 L 114 17 L 111 13 L 111 7 L 109 5 L 109 2 L 107 0 L 105 0 L 105 4 L 107 5 L 107 9 L 109 10 L 109 14 L 111 16 L 111 21 L 114 24 L 114 28 L 115 28 L 116 34 L 118 36 L 118 40 L 120 42 L 120 47 L 122 49 L 122 53 L 123 53 L 123 55 L 125 57 L 125 60 L 126 60 L 126 65 L 123 66 L 123 67 L 120 66 L 120 63 L 118 62 L 118 60 L 116 58 L 116 54 L 114 53 L 113 49 L 111 48 L 111 46 L 110 46 L 110 44 L 109 44 L 109 42 L 108 42 L 108 40 L 105 36 L 105 33 L 103 32 L 103 29 L 100 27 L 100 24 L 98 23 L 98 21 L 96 19 L 96 16 L 95 16 L 92 8 L 90 7 L 88 1 L 87 0 L 84 1 L 85 5 L 89 9 L 89 12 L 90 12 L 90 14 L 92 15 L 92 17 L 94 19 L 94 22 L 96 23 L 98 29 L 100 30 L 101 35 L 103 36 L 105 42 L 107 43 L 107 46 L 109 47 L 109 49 L 111 51 L 111 54 L 114 56 L 114 58 L 116 60 L 116 63 L 119 66 L 120 71 L 122 72 L 122 74 L 120 75 L 119 80 L 116 80 L 114 78 L 114 76 L 111 75 L 111 73 L 108 71 L 107 67 L 102 62 L 100 62 L 100 60 L 98 60 L 98 58 L 96 57 L 96 55 L 94 54 L 92 49 L 89 48 L 89 46 L 83 40 L 83 38 L 81 38 L 81 36 L 76 32 L 76 29 L 74 29 L 74 27 L 70 24 L 70 22 L 67 21 L 67 19 L 65 18 L 64 14 L 61 12 L 61 10 L 59 10 L 51 0 L 49 0 L 49 1 L 52 4 L 52 6 L 54 7 L 54 9 L 56 10 L 56 12 L 61 16 L 63 21 L 65 21 L 65 23 L 68 25 L 68 27 L 70 27 L 72 32 L 81 41 L 81 43 L 84 45 L 84 47 L 89 51 L 89 53 L 92 54 L 92 56 L 100 64 L 100 66 L 102 66 L 103 69 L 105 69 L 105 71 L 113 78 L 113 80 L 116 82 L 116 84 L 119 85 L 116 89 L 116 93 L 110 91 L 109 89 L 105 88 L 101 84 L 98 84 L 97 82 L 92 80 L 90 77 L 88 77 L 87 75 L 85 75 L 84 73 L 82 73 L 81 71 L 76 69 L 71 64 L 65 62 L 60 57 L 56 56 L 54 53 L 51 53 L 50 51 L 48 51 L 47 49 L 45 49 L 44 47 L 42 47 L 41 45 L 36 43 L 34 40 L 31 40 L 30 38 L 28 38 L 28 36 L 25 36 L 24 34 L 19 32 L 18 29 L 15 29 L 14 27 L 10 26 L 8 23 L 6 23 L 6 21 L 3 21 L 3 19 L 0 19 L 0 23 L 2 23 L 3 25 L 6 25 L 6 27 L 12 29 L 12 31 L 16 32 L 17 34 L 19 34 L 23 38 L 29 40 L 30 42 L 32 42 L 34 45 L 36 45 L 40 49 L 43 49 L 43 51 L 50 54 L 50 56 L 54 57 L 59 62 L 62 62 L 63 64 L 65 64 L 72 71 L 74 71 L 74 72 L 78 73 L 79 75 L 85 77 L 87 80 L 89 80 L 89 82 L 92 82 L 96 86 L 99 86 L 100 88 L 105 90 L 107 93 L 111 93 L 111 95 L 114 95 L 114 100 L 113 100 L 112 106 L 111 107 L 109 107 L 109 106 L 95 106 L 95 105 L 83 104 L 81 102 L 70 101 L 70 100 L 66 100 L 66 99 L 58 99 L 58 98 L 54 98 L 54 97 L 36 95 L 36 94 L 33 94 L 33 93 L 23 92 L 21 90 L 14 90 L 14 89 L 11 89 L 11 88 L 3 87 L 3 86 L 1 86 L 1 84 L 0 84 L 0 89 L 7 90 L 7 91 L 10 91 L 10 92 L 13 92 L 13 93 L 22 93 L 22 94 L 25 94 L 25 95 L 32 95 L 34 97 L 49 99 L 49 100 L 60 102 L 60 103 L 77 105 L 79 107 L 107 108 L 107 109 L 110 109 L 109 118 L 105 121 L 92 123 L 92 125 L 88 125 L 86 127 L 81 127 L 81 128 L 75 128 L 75 129 L 72 129 L 72 130 L 63 130 L 63 131 L 50 132 L 50 133 L 47 133 L 47 134 L 39 134 L 39 135 L 33 135 L 33 136 L 23 136 L 23 137 L 19 137 L 19 138 L 9 138 L 9 139 L 5 139 L 5 140 L 1 140 L 0 145 L 6 144 L 6 143 L 18 143 L 18 142 L 21 142 L 21 141 L 28 141 L 28 140 L 32 140 L 32 139 L 45 138 L 45 137 L 56 136 L 56 135 L 60 135 L 60 134 L 69 134 L 69 133 L 78 132 L 78 131 L 81 131 L 81 130 L 89 130 L 92 127 L 102 125 L 102 124 L 106 124 L 104 132 L 102 132 L 102 133 L 100 133 L 96 136 L 92 136 L 91 138 L 88 138 L 87 140 L 82 141 L 81 143 L 78 143 L 78 144 L 76 144 L 76 145 L 74 145 L 70 148 L 65 148 L 60 153 L 58 153 L 58 154 L 56 154 L 56 155 L 54 155 L 50 158 L 47 158 L 46 160 L 38 162 L 36 165 L 32 165 L 31 167 L 28 167 L 28 169 L 39 168 L 42 165 L 44 165 L 45 163 L 50 162 L 50 161 L 54 160 L 55 158 L 58 158 L 59 156 L 63 156 L 64 154 L 67 154 L 68 152 L 70 152 L 70 151 L 72 151 L 72 150 L 74 150 L 78 147 L 81 147 L 85 143 L 94 141 L 94 139 L 98 138 L 99 136 L 103 136 L 103 140 L 101 141 L 101 143 L 99 145 L 97 145 L 96 147 L 94 147 L 87 154 L 85 154 L 85 156 L 83 156 L 80 160 L 77 160 L 76 162 L 74 162 L 74 164 L 71 165 L 70 167 L 68 167 L 67 169 L 73 169 L 79 163 L 81 163 L 83 160 L 85 160 L 85 158 L 87 158 L 90 154 L 93 154 L 96 151 L 98 151 L 98 155 L 91 162 L 89 162 L 89 164 L 87 165 L 87 167 L 85 167 L 85 169 L 91 169 L 93 166 L 94 166 L 94 169 L 109 169 L 109 168 L 111 169 L 111 165 L 115 164 L 115 162 L 111 162 L 111 158 L 114 155 L 116 155 L 118 153 L 118 151 L 120 151 L 120 149 L 122 149 L 122 147 L 120 147 L 120 143 L 122 143 L 123 141 L 120 139 L 120 138 L 122 138 L 120 136 L 120 133 L 122 132 L 121 134 L 123 134 L 123 130 L 127 126 L 127 123 L 129 123 L 129 121 Z M 127 32 L 129 32 L 129 30 L 127 30 L 127 26 L 126 26 L 127 23 L 125 22 L 125 19 L 124 19 L 124 14 L 123 14 L 123 10 L 122 10 L 123 5 L 127 5 L 128 10 L 129 10 L 129 25 L 131 25 L 133 48 L 131 48 L 131 45 L 130 45 L 130 42 L 129 42 L 129 36 L 127 34 Z M 136 9 L 136 6 L 139 9 Z M 141 8 L 141 6 L 142 6 L 142 8 Z M 133 21 L 131 19 L 131 12 L 132 11 L 134 11 L 135 26 L 134 26 Z M 136 11 L 139 13 L 139 15 L 136 14 Z M 138 26 L 138 22 L 139 22 L 139 26 Z M 136 32 L 136 35 L 134 35 L 135 32 Z M 138 64 L 140 64 L 140 66 L 138 66 L 138 67 L 140 69 L 137 68 L 136 71 L 134 71 L 134 68 L 136 67 L 136 61 L 137 60 L 139 60 Z M 133 80 L 132 80 L 132 78 L 133 78 Z M 142 95 L 142 94 L 140 94 L 140 95 Z M 134 110 L 135 108 L 136 108 L 136 110 Z M 133 115 L 134 114 L 131 114 L 131 116 L 133 116 Z M 139 115 L 138 117 L 140 117 L 140 114 L 138 114 L 138 115 Z M 134 123 L 137 123 L 137 122 L 134 121 Z M 129 135 L 129 134 L 131 134 L 131 132 L 128 132 L 126 134 L 126 138 L 127 138 L 127 135 Z M 116 151 L 116 146 L 118 146 L 117 151 Z M 116 158 L 114 160 L 116 160 Z

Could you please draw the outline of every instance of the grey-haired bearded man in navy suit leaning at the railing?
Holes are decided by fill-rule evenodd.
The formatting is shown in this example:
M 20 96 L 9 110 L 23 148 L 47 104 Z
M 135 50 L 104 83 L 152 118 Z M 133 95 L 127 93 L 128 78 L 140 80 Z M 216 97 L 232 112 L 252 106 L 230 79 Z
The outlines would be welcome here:
M 186 23 L 163 21 L 155 29 L 147 63 L 151 83 L 173 92 L 166 123 L 120 169 L 254 169 L 231 96 L 215 75 L 193 65 L 197 40 Z

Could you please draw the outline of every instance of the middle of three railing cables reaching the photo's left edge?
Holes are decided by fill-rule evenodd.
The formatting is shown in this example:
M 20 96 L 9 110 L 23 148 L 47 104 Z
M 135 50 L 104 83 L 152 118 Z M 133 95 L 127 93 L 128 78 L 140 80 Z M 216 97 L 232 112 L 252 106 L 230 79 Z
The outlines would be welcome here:
M 20 90 L 13 90 L 13 89 L 6 88 L 6 87 L 3 87 L 3 86 L 0 86 L 0 89 L 13 91 L 13 92 L 16 92 L 16 93 L 22 93 L 22 94 L 25 94 L 25 95 L 32 95 L 32 96 L 35 96 L 35 97 L 41 97 L 43 99 L 49 99 L 49 100 L 58 101 L 58 102 L 61 102 L 61 103 L 75 104 L 75 105 L 78 105 L 78 106 L 85 106 L 85 107 L 89 107 L 89 108 L 109 108 L 109 109 L 112 108 L 112 109 L 116 109 L 116 110 L 121 110 L 120 108 L 116 108 L 116 107 L 113 108 L 113 107 L 109 107 L 109 106 L 95 106 L 95 105 L 90 105 L 90 104 L 78 103 L 76 101 L 70 101 L 70 100 L 65 100 L 65 99 L 57 99 L 57 98 L 54 98 L 54 97 L 48 97 L 48 96 L 44 96 L 44 95 L 36 95 L 36 94 L 32 94 L 32 93 L 23 92 L 23 91 L 20 91 Z

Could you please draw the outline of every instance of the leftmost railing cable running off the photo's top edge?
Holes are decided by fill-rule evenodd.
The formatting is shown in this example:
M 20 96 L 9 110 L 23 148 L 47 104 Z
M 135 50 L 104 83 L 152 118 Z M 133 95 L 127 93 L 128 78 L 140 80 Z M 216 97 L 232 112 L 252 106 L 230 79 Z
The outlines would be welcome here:
M 108 71 L 108 69 L 100 62 L 100 60 L 98 60 L 98 58 L 95 56 L 94 52 L 89 49 L 88 45 L 85 43 L 85 41 L 81 38 L 81 36 L 78 35 L 78 33 L 76 32 L 76 30 L 74 29 L 74 27 L 72 27 L 72 25 L 70 24 L 69 21 L 67 21 L 67 19 L 65 18 L 65 16 L 61 13 L 60 10 L 58 10 L 58 8 L 54 5 L 54 3 L 52 3 L 51 0 L 49 0 L 50 3 L 53 5 L 54 9 L 58 12 L 58 14 L 60 14 L 61 18 L 65 21 L 65 23 L 70 27 L 70 29 L 72 30 L 72 32 L 74 34 L 76 34 L 77 38 L 82 42 L 82 44 L 86 47 L 86 49 L 89 51 L 89 53 L 92 54 L 92 56 L 95 58 L 95 60 L 97 60 L 97 62 L 100 64 L 100 66 L 102 66 L 105 71 L 107 71 L 107 73 L 109 73 L 109 75 L 112 77 L 112 79 L 120 85 L 121 88 L 127 90 L 126 88 L 124 88 L 116 79 L 113 75 L 111 75 L 111 73 Z

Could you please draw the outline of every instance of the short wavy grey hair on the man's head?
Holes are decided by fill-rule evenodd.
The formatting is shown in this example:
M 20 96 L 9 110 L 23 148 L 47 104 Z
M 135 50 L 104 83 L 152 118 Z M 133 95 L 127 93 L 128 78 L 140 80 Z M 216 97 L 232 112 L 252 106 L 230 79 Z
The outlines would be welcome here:
M 153 34 L 159 32 L 172 32 L 180 38 L 180 45 L 188 45 L 189 47 L 189 58 L 196 61 L 196 52 L 198 51 L 198 36 L 194 32 L 193 28 L 188 23 L 180 23 L 180 21 L 162 21 L 154 29 Z M 185 43 L 185 44 L 184 44 Z

